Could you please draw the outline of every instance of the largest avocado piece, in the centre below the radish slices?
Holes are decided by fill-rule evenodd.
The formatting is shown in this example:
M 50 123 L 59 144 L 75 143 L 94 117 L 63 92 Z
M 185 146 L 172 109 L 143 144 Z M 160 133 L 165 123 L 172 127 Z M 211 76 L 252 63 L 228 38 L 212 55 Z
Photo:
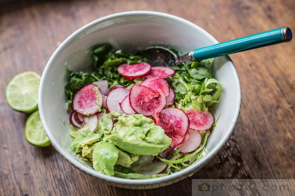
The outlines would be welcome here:
M 171 143 L 165 131 L 142 114 L 118 117 L 109 138 L 119 148 L 137 155 L 156 155 Z

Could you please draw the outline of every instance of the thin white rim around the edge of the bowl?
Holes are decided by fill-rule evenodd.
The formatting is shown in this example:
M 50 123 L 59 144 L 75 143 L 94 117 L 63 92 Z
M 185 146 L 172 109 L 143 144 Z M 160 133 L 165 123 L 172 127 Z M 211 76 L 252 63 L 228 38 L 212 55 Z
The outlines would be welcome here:
M 196 25 L 196 24 L 194 24 L 194 23 L 192 23 L 192 22 L 190 22 L 190 21 L 188 21 L 186 19 L 183 19 L 181 17 L 174 16 L 174 15 L 171 15 L 171 14 L 162 13 L 162 12 L 155 12 L 155 11 L 126 11 L 126 12 L 119 12 L 119 13 L 110 14 L 108 16 L 101 17 L 99 19 L 96 19 L 96 20 L 82 26 L 78 30 L 76 30 L 74 33 L 72 33 L 70 36 L 68 36 L 68 38 L 66 38 L 65 41 L 63 41 L 63 43 L 61 43 L 60 46 L 55 50 L 55 52 L 53 53 L 53 55 L 50 57 L 49 61 L 47 62 L 46 66 L 45 66 L 45 69 L 44 69 L 44 71 L 42 73 L 42 77 L 41 77 L 41 81 L 40 81 L 40 87 L 39 87 L 39 94 L 38 94 L 38 102 L 39 102 L 38 105 L 39 106 L 43 105 L 43 101 L 42 101 L 43 88 L 42 88 L 42 86 L 44 86 L 44 84 L 45 84 L 45 76 L 47 76 L 47 73 L 49 72 L 49 70 L 50 70 L 50 68 L 51 68 L 51 66 L 53 64 L 53 61 L 58 56 L 60 51 L 62 51 L 72 41 L 72 39 L 74 37 L 76 37 L 77 35 L 82 33 L 84 30 L 90 28 L 91 26 L 94 26 L 94 25 L 96 25 L 98 23 L 101 23 L 103 21 L 113 19 L 113 18 L 116 18 L 116 17 L 130 16 L 130 15 L 160 16 L 160 17 L 173 19 L 173 20 L 176 20 L 176 21 L 179 21 L 181 23 L 185 23 L 185 24 L 187 24 L 189 26 L 194 27 L 198 31 L 200 31 L 200 32 L 202 32 L 204 34 L 207 34 L 207 36 L 211 39 L 211 41 L 213 41 L 215 43 L 219 43 L 211 34 L 209 34 L 207 31 L 205 31 L 204 29 L 202 29 L 198 25 Z M 234 121 L 233 121 L 233 123 L 231 123 L 228 131 L 225 133 L 224 139 L 219 140 L 219 142 L 213 147 L 212 150 L 210 150 L 207 153 L 206 156 L 201 158 L 198 162 L 194 163 L 190 167 L 187 167 L 187 168 L 185 168 L 185 169 L 183 169 L 181 171 L 175 172 L 173 174 L 169 174 L 167 176 L 162 176 L 162 177 L 150 178 L 150 179 L 126 179 L 126 178 L 120 178 L 120 177 L 104 175 L 104 174 L 102 174 L 100 172 L 97 172 L 97 171 L 87 167 L 86 165 L 83 165 L 76 158 L 74 158 L 71 155 L 68 155 L 68 153 L 63 150 L 62 146 L 57 143 L 54 136 L 49 131 L 50 130 L 49 126 L 47 125 L 47 121 L 44 118 L 43 107 L 39 107 L 39 113 L 40 113 L 40 118 L 41 118 L 41 121 L 42 121 L 42 125 L 44 127 L 44 130 L 45 130 L 48 138 L 50 139 L 50 142 L 54 146 L 54 148 L 61 155 L 63 155 L 63 157 L 66 160 L 68 160 L 72 165 L 79 168 L 80 170 L 82 170 L 84 172 L 87 172 L 88 174 L 91 174 L 91 175 L 93 175 L 95 177 L 98 177 L 101 180 L 106 180 L 106 181 L 109 181 L 109 182 L 115 182 L 115 183 L 119 183 L 119 184 L 143 185 L 143 184 L 154 184 L 154 183 L 170 181 L 170 180 L 179 178 L 179 177 L 181 177 L 183 175 L 187 175 L 188 173 L 193 174 L 197 167 L 199 167 L 199 169 L 201 167 L 203 167 L 207 162 L 209 162 L 209 160 L 211 160 L 214 157 L 214 155 L 216 155 L 219 152 L 219 150 L 222 148 L 222 146 L 225 144 L 225 142 L 230 137 L 230 134 L 232 133 L 232 130 L 235 127 L 235 124 L 237 122 L 237 118 L 238 118 L 239 113 L 240 113 L 240 106 L 241 106 L 241 104 L 240 104 L 241 103 L 240 80 L 239 80 L 235 65 L 232 63 L 232 60 L 230 59 L 229 56 L 226 56 L 226 57 L 227 57 L 228 61 L 230 62 L 233 74 L 235 76 L 235 80 L 238 83 L 238 89 L 237 89 L 238 90 L 238 95 L 237 95 L 238 105 L 237 105 L 237 107 L 235 108 L 235 111 L 234 111 L 234 116 L 235 116 Z

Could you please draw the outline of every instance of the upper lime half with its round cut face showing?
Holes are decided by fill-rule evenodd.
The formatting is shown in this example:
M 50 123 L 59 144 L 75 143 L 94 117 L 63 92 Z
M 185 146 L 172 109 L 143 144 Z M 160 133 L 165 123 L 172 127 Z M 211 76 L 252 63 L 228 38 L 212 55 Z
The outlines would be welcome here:
M 41 76 L 34 71 L 25 71 L 14 76 L 5 92 L 10 107 L 27 113 L 37 110 L 40 79 Z

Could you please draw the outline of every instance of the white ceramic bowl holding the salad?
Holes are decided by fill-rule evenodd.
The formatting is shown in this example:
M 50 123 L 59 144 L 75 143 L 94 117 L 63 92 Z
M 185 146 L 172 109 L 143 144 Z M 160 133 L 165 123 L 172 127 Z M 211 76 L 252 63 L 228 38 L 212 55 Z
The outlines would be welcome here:
M 39 111 L 44 129 L 55 149 L 79 169 L 117 187 L 148 189 L 172 184 L 203 167 L 215 156 L 229 138 L 237 121 L 241 88 L 234 64 L 228 56 L 215 58 L 213 75 L 223 86 L 221 102 L 215 106 L 215 118 L 222 112 L 215 130 L 206 144 L 208 154 L 190 167 L 153 179 L 124 179 L 96 172 L 71 150 L 68 134 L 69 114 L 65 110 L 66 68 L 73 71 L 90 69 L 91 51 L 95 45 L 111 43 L 115 48 L 132 51 L 151 45 L 171 46 L 188 52 L 218 43 L 199 26 L 170 14 L 152 11 L 131 11 L 97 19 L 69 36 L 53 53 L 42 74 Z M 65 125 L 63 125 L 65 120 Z

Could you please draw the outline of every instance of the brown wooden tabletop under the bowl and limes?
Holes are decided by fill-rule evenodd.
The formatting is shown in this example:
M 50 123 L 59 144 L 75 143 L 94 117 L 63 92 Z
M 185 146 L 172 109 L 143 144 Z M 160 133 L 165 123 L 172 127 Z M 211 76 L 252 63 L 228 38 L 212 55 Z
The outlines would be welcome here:
M 294 0 L 76 0 L 0 3 L 0 195 L 190 195 L 194 178 L 295 177 L 295 39 L 231 55 L 242 86 L 242 107 L 224 148 L 192 177 L 153 190 L 105 185 L 66 161 L 52 146 L 27 143 L 28 115 L 6 103 L 17 73 L 42 73 L 66 37 L 101 16 L 152 10 L 180 16 L 218 41 L 289 26 Z

